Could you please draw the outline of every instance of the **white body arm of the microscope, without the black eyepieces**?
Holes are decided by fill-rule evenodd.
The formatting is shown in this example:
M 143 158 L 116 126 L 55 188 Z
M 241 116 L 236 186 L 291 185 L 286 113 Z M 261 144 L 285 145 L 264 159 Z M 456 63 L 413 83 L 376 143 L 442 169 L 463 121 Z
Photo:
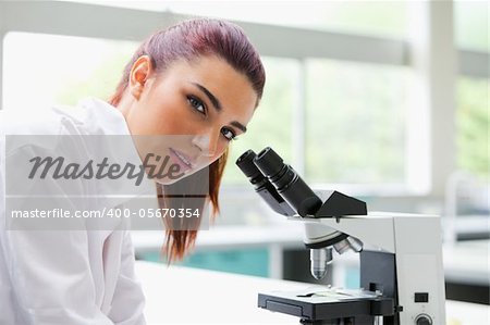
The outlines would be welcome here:
M 421 315 L 429 315 L 434 325 L 445 324 L 439 216 L 372 212 L 339 218 L 290 218 L 305 223 L 305 243 L 322 241 L 335 229 L 363 241 L 364 250 L 394 253 L 401 324 L 416 324 Z M 415 302 L 415 292 L 429 293 L 428 302 Z

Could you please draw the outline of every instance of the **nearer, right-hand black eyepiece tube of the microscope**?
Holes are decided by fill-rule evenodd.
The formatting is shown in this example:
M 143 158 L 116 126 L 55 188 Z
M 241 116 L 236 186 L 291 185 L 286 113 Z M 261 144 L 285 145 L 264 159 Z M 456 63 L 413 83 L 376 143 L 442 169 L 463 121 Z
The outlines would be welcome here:
M 260 151 L 254 163 L 301 216 L 313 215 L 320 209 L 321 200 L 271 148 Z

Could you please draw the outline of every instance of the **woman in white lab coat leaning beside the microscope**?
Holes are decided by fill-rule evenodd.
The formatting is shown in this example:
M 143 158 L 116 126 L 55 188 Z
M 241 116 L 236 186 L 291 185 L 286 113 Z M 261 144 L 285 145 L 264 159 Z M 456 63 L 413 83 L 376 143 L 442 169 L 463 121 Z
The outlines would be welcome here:
M 194 20 L 158 32 L 142 43 L 109 102 L 90 98 L 75 110 L 53 109 L 29 122 L 2 113 L 0 126 L 2 135 L 131 135 L 142 161 L 155 149 L 155 142 L 139 141 L 140 136 L 177 135 L 171 137 L 174 141 L 157 148 L 180 170 L 174 177 L 154 177 L 160 205 L 185 205 L 182 200 L 203 187 L 196 177 L 209 166 L 209 195 L 192 205 L 203 212 L 209 201 L 217 212 L 228 145 L 246 130 L 264 84 L 259 55 L 240 27 L 217 20 Z M 0 149 L 5 154 L 0 195 L 4 198 L 9 159 L 19 151 L 35 154 L 38 148 L 32 143 L 9 146 L 4 137 L 1 139 Z M 19 159 L 15 162 L 21 164 Z M 84 184 L 76 187 L 84 197 L 100 196 L 97 190 L 107 193 L 107 189 Z M 63 183 L 53 185 L 64 193 Z M 175 192 L 177 200 L 166 198 Z M 123 203 L 88 202 L 90 209 Z M 2 218 L 8 216 L 5 209 L 0 211 Z M 0 324 L 145 324 L 144 296 L 133 270 L 127 227 L 23 232 L 0 224 Z M 181 259 L 193 246 L 197 227 L 195 220 L 189 224 L 193 228 L 167 224 L 164 251 L 169 260 Z

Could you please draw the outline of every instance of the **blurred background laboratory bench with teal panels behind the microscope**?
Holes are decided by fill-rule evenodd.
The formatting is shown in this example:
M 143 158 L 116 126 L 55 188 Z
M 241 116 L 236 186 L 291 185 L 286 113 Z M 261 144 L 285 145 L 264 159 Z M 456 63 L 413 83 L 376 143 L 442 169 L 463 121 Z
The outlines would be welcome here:
M 219 226 L 199 232 L 196 248 L 180 265 L 273 279 L 318 283 L 309 275 L 309 250 L 303 226 L 294 222 L 273 226 Z M 133 230 L 138 260 L 161 262 L 163 232 Z M 490 241 L 462 241 L 443 247 L 446 297 L 489 304 Z M 358 287 L 358 255 L 334 254 L 328 283 Z

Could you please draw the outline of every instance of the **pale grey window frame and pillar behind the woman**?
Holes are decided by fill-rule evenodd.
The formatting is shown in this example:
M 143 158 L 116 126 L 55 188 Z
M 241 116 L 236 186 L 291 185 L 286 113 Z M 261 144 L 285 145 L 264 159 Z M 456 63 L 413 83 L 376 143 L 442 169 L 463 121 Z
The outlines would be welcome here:
M 436 1 L 437 2 L 437 1 Z M 235 22 L 241 25 L 259 52 L 267 57 L 293 58 L 302 65 L 308 58 L 340 61 L 356 61 L 372 64 L 409 66 L 414 68 L 427 89 L 418 89 L 413 96 L 418 98 L 418 108 L 411 112 L 406 122 L 408 138 L 407 176 L 400 186 L 368 186 L 342 184 L 315 184 L 315 188 L 344 189 L 356 195 L 383 196 L 442 196 L 444 183 L 454 171 L 455 150 L 446 147 L 454 143 L 454 126 L 437 123 L 449 111 L 455 111 L 455 100 L 444 100 L 441 93 L 454 93 L 457 74 L 489 77 L 489 53 L 457 50 L 454 48 L 453 4 L 451 2 L 420 2 L 411 5 L 419 24 L 412 30 L 417 38 L 392 39 L 298 27 L 273 26 L 267 24 Z M 0 103 L 2 102 L 3 38 L 9 32 L 27 32 L 106 38 L 111 40 L 140 41 L 158 26 L 173 25 L 188 15 L 171 12 L 154 12 L 100 4 L 64 1 L 1 1 L 0 2 Z M 87 24 L 90 22 L 90 24 Z M 448 28 L 441 28 L 448 27 Z M 427 40 L 437 40 L 431 43 Z M 442 40 L 441 40 L 442 39 Z M 432 41 L 433 42 L 433 41 Z M 292 47 L 291 43 L 295 46 Z M 362 48 L 363 51 L 358 49 Z M 438 62 L 449 58 L 444 62 Z M 458 66 L 458 71 L 445 72 L 448 62 Z M 430 64 L 434 65 L 431 66 Z M 293 161 L 295 168 L 304 174 L 305 162 L 305 73 L 297 82 L 298 93 L 294 109 L 292 129 Z M 422 88 L 422 87 L 421 87 Z M 421 103 L 421 105 L 419 105 Z M 443 112 L 439 107 L 444 107 Z M 439 109 L 434 109 L 439 108 Z M 0 108 L 1 109 L 1 108 Z M 422 129 L 413 127 L 425 121 Z M 429 143 L 421 143 L 420 134 L 427 135 Z M 427 159 L 420 161 L 420 157 Z M 449 163 L 446 163 L 449 162 Z M 442 165 L 443 167 L 440 167 Z

